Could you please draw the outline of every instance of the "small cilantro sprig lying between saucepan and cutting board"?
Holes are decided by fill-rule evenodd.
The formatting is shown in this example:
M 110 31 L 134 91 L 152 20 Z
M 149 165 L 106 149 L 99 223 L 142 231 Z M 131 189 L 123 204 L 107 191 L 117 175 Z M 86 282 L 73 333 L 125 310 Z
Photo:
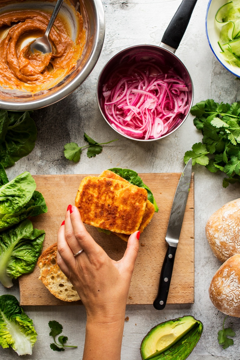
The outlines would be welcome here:
M 97 143 L 95 140 L 90 138 L 86 133 L 84 133 L 84 140 L 89 144 L 85 146 L 79 147 L 76 143 L 68 143 L 64 145 L 64 156 L 68 160 L 78 162 L 81 157 L 82 149 L 87 148 L 87 156 L 89 158 L 95 157 L 100 154 L 103 150 L 101 145 L 110 144 L 113 141 L 117 141 L 118 139 L 108 141 L 107 143 Z

